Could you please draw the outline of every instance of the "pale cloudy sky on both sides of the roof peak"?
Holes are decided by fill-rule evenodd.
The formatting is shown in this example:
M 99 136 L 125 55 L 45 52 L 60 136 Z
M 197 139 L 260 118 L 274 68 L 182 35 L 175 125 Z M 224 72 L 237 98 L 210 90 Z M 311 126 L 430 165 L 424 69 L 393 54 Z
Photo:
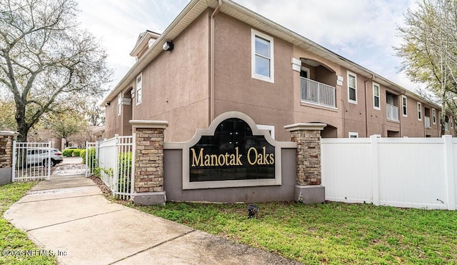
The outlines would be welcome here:
M 141 32 L 163 32 L 189 0 L 77 0 L 79 21 L 106 49 L 114 69 L 114 88 L 135 64 L 129 54 Z M 401 73 L 393 47 L 396 30 L 416 0 L 234 0 L 297 34 L 415 91 L 418 84 Z

